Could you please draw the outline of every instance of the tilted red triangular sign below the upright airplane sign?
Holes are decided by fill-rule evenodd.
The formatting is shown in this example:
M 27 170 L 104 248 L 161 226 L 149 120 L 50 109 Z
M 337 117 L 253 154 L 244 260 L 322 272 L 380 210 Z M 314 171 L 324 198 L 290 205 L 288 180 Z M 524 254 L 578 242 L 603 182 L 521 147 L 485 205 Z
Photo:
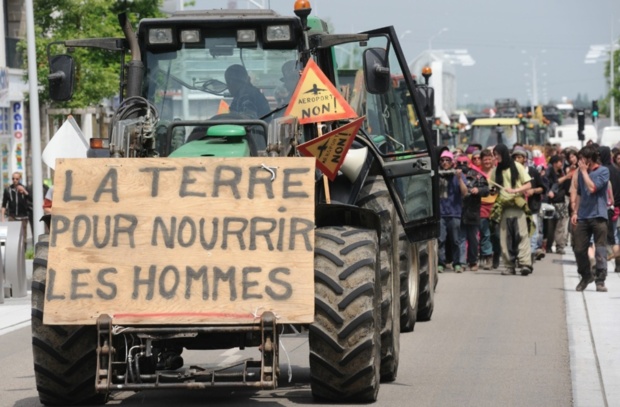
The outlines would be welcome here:
M 360 117 L 324 136 L 300 144 L 297 150 L 306 157 L 316 158 L 316 166 L 333 181 L 364 119 L 365 116 Z

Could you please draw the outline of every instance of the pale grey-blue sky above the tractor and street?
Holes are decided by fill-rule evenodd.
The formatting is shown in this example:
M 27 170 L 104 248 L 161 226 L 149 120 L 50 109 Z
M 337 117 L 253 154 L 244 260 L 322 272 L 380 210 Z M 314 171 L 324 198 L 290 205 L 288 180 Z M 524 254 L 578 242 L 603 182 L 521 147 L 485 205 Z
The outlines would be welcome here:
M 226 8 L 229 1 L 195 0 L 192 8 Z M 591 45 L 610 46 L 612 35 L 616 43 L 620 39 L 620 0 L 310 2 L 312 13 L 330 21 L 335 33 L 393 25 L 409 61 L 429 48 L 429 40 L 433 49 L 467 49 L 476 63 L 455 67 L 459 105 L 492 105 L 499 98 L 528 104 L 534 74 L 541 102 L 602 98 L 608 92 L 608 58 L 585 64 L 585 56 Z M 290 15 L 294 0 L 236 3 Z

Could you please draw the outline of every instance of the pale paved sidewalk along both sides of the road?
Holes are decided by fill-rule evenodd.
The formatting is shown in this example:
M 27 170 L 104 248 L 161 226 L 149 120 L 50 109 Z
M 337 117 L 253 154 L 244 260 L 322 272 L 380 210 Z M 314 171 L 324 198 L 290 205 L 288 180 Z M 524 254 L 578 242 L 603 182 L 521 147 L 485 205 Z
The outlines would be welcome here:
M 594 283 L 577 292 L 573 253 L 548 256 L 564 273 L 573 405 L 620 406 L 620 273 L 613 272 L 610 262 L 608 292 L 596 292 Z M 5 298 L 0 304 L 0 335 L 29 325 L 30 291 L 23 298 Z

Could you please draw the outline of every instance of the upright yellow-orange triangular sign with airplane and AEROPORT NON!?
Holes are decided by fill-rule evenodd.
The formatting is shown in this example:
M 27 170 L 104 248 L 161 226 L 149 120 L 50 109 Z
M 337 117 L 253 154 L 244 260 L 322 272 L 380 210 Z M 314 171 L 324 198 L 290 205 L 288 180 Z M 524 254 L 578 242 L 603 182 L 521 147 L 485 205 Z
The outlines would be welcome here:
M 293 92 L 285 116 L 297 117 L 299 123 L 316 123 L 357 117 L 357 113 L 310 59 Z

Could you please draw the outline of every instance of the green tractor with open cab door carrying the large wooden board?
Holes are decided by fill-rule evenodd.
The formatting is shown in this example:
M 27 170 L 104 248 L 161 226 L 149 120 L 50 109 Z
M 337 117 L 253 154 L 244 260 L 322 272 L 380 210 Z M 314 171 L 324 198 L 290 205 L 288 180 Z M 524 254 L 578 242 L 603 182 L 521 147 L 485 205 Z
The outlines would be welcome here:
M 296 324 L 296 331 L 308 334 L 315 397 L 372 402 L 380 382 L 397 376 L 400 333 L 412 331 L 416 320 L 430 320 L 433 312 L 438 173 L 425 116 L 433 105 L 432 93 L 412 78 L 393 27 L 329 34 L 324 22 L 310 16 L 308 2 L 297 3 L 294 16 L 270 10 L 178 12 L 144 19 L 137 32 L 121 16 L 125 38 L 63 44 L 121 55 L 121 103 L 112 118 L 109 139 L 91 143 L 98 146 L 89 151 L 92 168 L 104 163 L 120 168 L 123 162 L 139 160 L 164 164 L 300 160 L 299 145 L 353 118 L 331 119 L 336 106 L 329 96 L 322 99 L 323 86 L 304 95 L 293 89 L 295 82 L 301 83 L 309 61 L 317 64 L 355 116 L 364 118 L 336 174 L 328 180 L 315 170 L 314 185 L 307 191 L 314 197 L 313 317 L 311 322 Z M 243 67 L 247 77 L 231 80 L 227 77 L 231 66 Z M 287 73 L 283 73 L 287 66 L 293 67 L 293 85 L 288 88 Z M 76 76 L 73 58 L 53 55 L 50 71 L 52 98 L 70 99 Z M 240 102 L 239 91 L 234 90 L 239 82 L 251 84 L 260 95 L 254 93 L 251 103 Z M 321 104 L 322 100 L 329 103 Z M 307 101 L 311 103 L 307 115 L 287 114 L 294 111 L 294 104 Z M 315 113 L 318 118 L 309 120 Z M 263 166 L 275 177 L 276 167 Z M 80 176 L 71 170 L 66 174 L 73 177 L 67 178 L 67 185 Z M 114 182 L 122 187 L 132 180 Z M 70 197 L 68 190 L 64 195 L 56 191 L 64 196 L 63 202 Z M 80 210 L 89 210 L 88 203 L 79 204 Z M 118 314 L 99 308 L 93 311 L 98 317 L 89 323 L 45 322 L 46 308 L 65 298 L 53 291 L 59 290 L 59 279 L 64 277 L 48 267 L 48 260 L 50 265 L 60 264 L 59 259 L 70 263 L 76 253 L 91 250 L 82 243 L 79 250 L 57 243 L 69 217 L 60 203 L 54 208 L 50 234 L 42 235 L 36 244 L 32 291 L 35 377 L 43 404 L 105 403 L 111 392 L 121 390 L 276 388 L 279 336 L 287 332 L 277 317 L 279 309 L 258 313 L 253 323 L 232 325 L 172 320 L 121 323 Z M 186 210 L 192 215 L 192 208 Z M 233 214 L 234 205 L 229 210 Z M 78 217 L 74 239 L 82 233 Z M 89 251 L 93 262 L 114 267 L 124 261 L 105 248 L 96 249 Z M 173 254 L 161 251 L 159 257 L 165 256 Z M 72 278 L 79 273 L 74 269 Z M 52 277 L 57 279 L 55 285 Z M 84 288 L 73 282 L 71 295 Z M 110 286 L 105 277 L 100 283 Z M 244 284 L 245 291 L 252 288 L 245 280 Z M 94 309 L 83 297 L 80 307 Z M 180 295 L 170 297 L 173 303 L 184 300 Z M 198 308 L 210 309 L 211 300 Z M 106 306 L 112 302 L 108 298 Z M 216 305 L 232 314 L 236 304 Z M 286 307 L 286 301 L 281 306 Z M 183 349 L 236 347 L 256 347 L 261 357 L 205 370 L 186 365 L 181 356 Z

